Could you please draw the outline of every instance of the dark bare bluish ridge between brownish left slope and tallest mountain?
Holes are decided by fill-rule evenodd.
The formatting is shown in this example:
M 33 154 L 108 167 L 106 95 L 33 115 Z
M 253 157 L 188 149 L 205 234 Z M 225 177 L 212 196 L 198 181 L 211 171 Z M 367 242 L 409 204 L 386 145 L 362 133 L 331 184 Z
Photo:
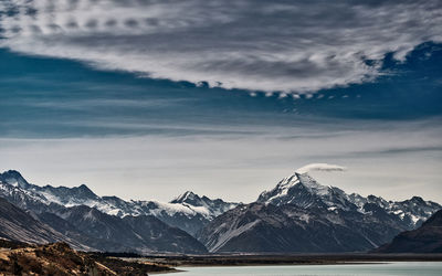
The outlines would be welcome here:
M 67 208 L 56 214 L 87 236 L 119 243 L 138 253 L 206 252 L 206 247 L 187 232 L 171 227 L 151 215 L 127 215 L 120 219 L 86 205 Z

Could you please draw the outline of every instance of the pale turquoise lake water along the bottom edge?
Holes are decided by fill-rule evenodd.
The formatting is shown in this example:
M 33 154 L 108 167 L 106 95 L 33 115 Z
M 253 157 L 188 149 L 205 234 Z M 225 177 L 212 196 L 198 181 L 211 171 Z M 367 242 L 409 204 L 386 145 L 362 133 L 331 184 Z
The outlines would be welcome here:
M 182 276 L 441 276 L 442 262 L 398 262 L 360 265 L 293 265 L 293 266 L 221 266 L 221 267 L 178 267 L 186 272 Z M 171 275 L 171 274 L 168 274 Z

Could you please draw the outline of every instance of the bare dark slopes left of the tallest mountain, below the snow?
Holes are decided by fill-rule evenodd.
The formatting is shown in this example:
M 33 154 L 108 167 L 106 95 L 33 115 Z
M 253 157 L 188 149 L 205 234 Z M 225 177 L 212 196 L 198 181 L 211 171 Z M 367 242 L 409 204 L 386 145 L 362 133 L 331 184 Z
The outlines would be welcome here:
M 83 251 L 204 253 L 187 232 L 155 216 L 118 217 L 85 205 L 32 213 L 0 198 L 0 237 L 27 243 L 66 242 Z

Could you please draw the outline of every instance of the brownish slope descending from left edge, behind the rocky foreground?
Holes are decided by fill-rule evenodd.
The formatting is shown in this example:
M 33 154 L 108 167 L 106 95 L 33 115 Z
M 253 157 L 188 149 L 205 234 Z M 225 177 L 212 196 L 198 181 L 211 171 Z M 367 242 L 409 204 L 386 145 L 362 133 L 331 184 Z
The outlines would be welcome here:
M 0 237 L 25 243 L 69 242 L 75 248 L 91 250 L 34 219 L 31 214 L 0 198 Z

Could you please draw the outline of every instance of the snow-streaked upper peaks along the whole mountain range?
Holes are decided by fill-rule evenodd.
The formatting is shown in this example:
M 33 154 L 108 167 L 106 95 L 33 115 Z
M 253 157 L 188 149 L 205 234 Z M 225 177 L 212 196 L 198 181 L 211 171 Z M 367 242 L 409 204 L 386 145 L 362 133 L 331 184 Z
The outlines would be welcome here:
M 117 197 L 98 197 L 85 184 L 75 188 L 34 185 L 29 183 L 18 171 L 0 173 L 0 197 L 7 198 L 20 206 L 32 206 L 34 210 L 43 210 L 44 206 L 55 203 L 64 206 L 86 205 L 120 217 L 155 215 L 192 234 L 197 233 L 206 222 L 239 205 L 239 203 L 224 202 L 221 199 L 212 200 L 199 197 L 191 191 L 185 192 L 169 203 L 125 201 Z M 383 210 L 410 224 L 410 227 L 419 225 L 434 211 L 441 209 L 438 203 L 424 201 L 418 197 L 394 202 L 376 195 L 347 194 L 336 187 L 323 185 L 307 172 L 301 173 L 299 171 L 281 180 L 274 189 L 264 191 L 257 202 L 274 205 L 295 204 L 305 209 L 325 209 L 329 212 L 370 213 Z M 194 224 L 182 224 L 182 220 Z

